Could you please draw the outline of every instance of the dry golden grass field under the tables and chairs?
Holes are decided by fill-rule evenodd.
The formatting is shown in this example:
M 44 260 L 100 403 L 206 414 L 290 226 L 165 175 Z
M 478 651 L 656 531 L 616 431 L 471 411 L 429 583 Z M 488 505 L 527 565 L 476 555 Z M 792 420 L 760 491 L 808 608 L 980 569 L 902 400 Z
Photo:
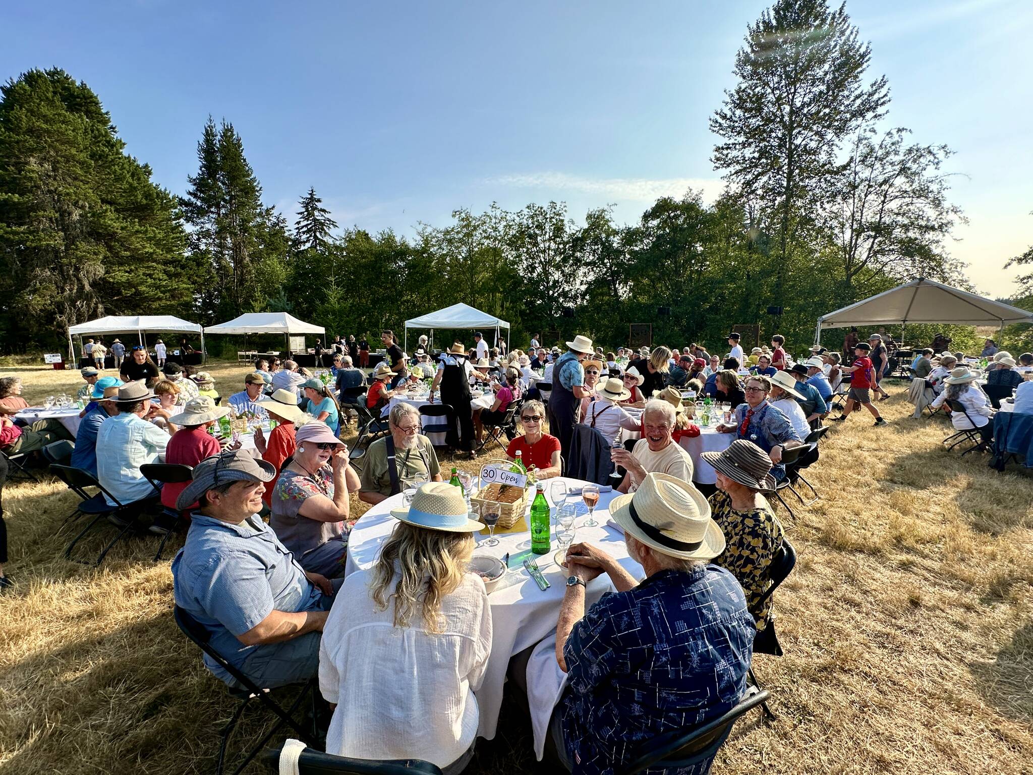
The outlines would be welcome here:
M 223 395 L 245 373 L 209 370 Z M 80 380 L 0 371 L 22 375 L 30 402 Z M 890 390 L 889 427 L 867 412 L 836 424 L 809 472 L 822 499 L 795 521 L 780 513 L 800 555 L 775 597 L 786 655 L 754 662 L 778 719 L 737 726 L 715 773 L 1033 772 L 1033 479 L 948 455 L 946 424 L 911 420 Z M 124 542 L 100 569 L 67 562 L 73 503 L 53 479 L 4 492 L 18 586 L 0 597 L 0 771 L 213 771 L 234 703 L 173 622 L 157 538 Z M 256 715 L 248 738 L 268 720 Z M 469 772 L 540 772 L 529 748 L 509 702 Z

